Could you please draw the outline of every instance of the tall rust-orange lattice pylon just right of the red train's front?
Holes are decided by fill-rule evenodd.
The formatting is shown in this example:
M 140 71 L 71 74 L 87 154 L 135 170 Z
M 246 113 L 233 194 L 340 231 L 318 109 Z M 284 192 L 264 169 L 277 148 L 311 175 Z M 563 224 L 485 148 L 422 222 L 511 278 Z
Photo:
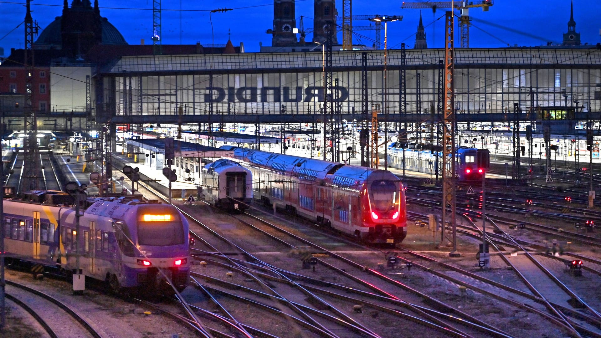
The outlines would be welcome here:
M 445 15 L 445 86 L 444 113 L 442 123 L 442 239 L 453 244 L 456 241 L 456 205 L 455 205 L 455 129 L 456 115 L 453 98 L 454 43 L 453 12 Z M 441 243 L 442 244 L 442 243 Z

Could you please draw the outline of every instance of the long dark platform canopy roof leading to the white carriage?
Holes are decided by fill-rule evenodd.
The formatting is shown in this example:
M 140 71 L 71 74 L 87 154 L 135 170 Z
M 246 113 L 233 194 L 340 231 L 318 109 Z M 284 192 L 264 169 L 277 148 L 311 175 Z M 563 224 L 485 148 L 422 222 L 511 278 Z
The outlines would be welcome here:
M 126 140 L 127 144 L 134 147 L 139 147 L 149 152 L 165 153 L 165 139 L 164 138 L 140 138 L 138 140 Z M 190 143 L 185 141 L 174 140 L 173 141 L 175 156 L 176 157 L 214 157 L 220 158 L 221 156 L 231 153 L 230 150 L 219 149 L 215 147 L 203 146 L 202 144 Z

